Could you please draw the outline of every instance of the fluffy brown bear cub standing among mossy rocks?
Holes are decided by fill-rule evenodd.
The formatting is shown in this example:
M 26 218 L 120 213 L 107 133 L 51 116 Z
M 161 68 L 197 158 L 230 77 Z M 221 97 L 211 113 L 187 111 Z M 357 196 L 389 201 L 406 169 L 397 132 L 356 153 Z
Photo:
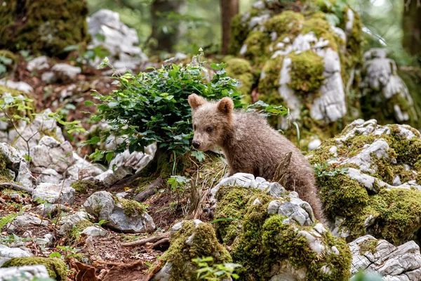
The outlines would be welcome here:
M 270 181 L 282 159 L 292 152 L 283 185 L 287 190 L 298 192 L 300 198 L 312 206 L 314 216 L 325 221 L 312 166 L 293 143 L 267 123 L 264 116 L 234 110 L 231 98 L 210 102 L 192 94 L 189 105 L 192 107 L 193 147 L 201 151 L 215 145 L 222 148 L 228 160 L 229 176 L 241 172 Z

